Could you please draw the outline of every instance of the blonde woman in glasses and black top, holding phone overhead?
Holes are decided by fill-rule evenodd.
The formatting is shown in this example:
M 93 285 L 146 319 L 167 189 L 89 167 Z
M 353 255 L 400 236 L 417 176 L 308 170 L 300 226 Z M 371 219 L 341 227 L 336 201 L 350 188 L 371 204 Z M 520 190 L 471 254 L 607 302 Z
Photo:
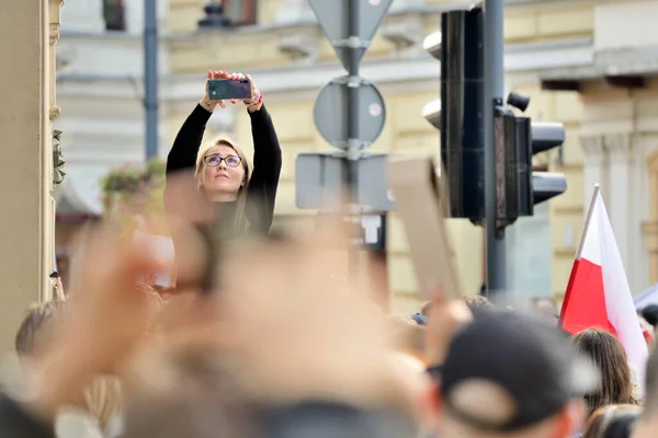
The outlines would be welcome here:
M 253 138 L 253 163 L 238 143 L 219 137 L 202 146 L 206 124 L 217 106 L 226 108 L 226 102 L 208 97 L 206 93 L 188 116 L 179 130 L 167 158 L 167 186 L 164 206 L 170 214 L 185 206 L 185 199 L 175 198 L 172 177 L 189 172 L 196 180 L 196 189 L 213 211 L 211 229 L 201 226 L 198 231 L 212 245 L 205 262 L 198 260 L 197 249 L 190 247 L 190 235 L 171 230 L 173 241 L 172 283 L 175 288 L 197 285 L 203 290 L 213 288 L 214 260 L 216 257 L 213 235 L 232 240 L 247 234 L 266 235 L 274 217 L 274 200 L 281 174 L 281 147 L 272 118 L 263 105 L 263 96 L 249 76 L 229 74 L 226 71 L 208 71 L 207 79 L 245 80 L 251 85 L 251 97 L 242 100 L 251 119 Z M 238 100 L 230 100 L 236 104 Z M 172 183 L 175 186 L 175 183 Z M 185 196 L 185 195 L 183 195 Z M 193 238 L 194 239 L 194 238 Z M 202 273 L 197 273 L 201 269 Z M 194 274 L 197 273 L 197 274 Z M 200 277 L 198 277 L 200 276 Z M 194 278 L 200 278 L 195 280 Z M 197 284 L 201 281 L 201 284 Z

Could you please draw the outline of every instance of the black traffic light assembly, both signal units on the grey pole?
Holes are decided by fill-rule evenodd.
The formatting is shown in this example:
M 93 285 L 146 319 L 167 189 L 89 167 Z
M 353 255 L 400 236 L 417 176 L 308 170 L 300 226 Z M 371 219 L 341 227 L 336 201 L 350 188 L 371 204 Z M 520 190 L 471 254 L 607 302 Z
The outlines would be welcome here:
M 441 32 L 429 35 L 423 48 L 441 60 L 441 99 L 422 108 L 423 117 L 441 131 L 441 161 L 447 178 L 450 217 L 485 221 L 485 62 L 481 8 L 444 12 Z M 559 147 L 565 128 L 557 123 L 533 123 L 514 115 L 525 112 L 530 97 L 510 93 L 496 102 L 497 228 L 521 216 L 533 216 L 534 205 L 563 194 L 563 174 L 535 172 L 533 155 Z

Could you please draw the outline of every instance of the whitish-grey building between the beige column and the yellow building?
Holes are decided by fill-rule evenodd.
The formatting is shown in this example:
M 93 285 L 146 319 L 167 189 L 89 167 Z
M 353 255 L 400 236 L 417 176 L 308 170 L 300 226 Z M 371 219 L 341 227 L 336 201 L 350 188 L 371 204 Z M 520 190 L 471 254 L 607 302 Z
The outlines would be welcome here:
M 164 27 L 167 3 L 158 3 L 159 26 Z M 73 233 L 102 214 L 100 180 L 112 169 L 145 159 L 144 1 L 67 0 L 61 23 L 57 96 L 66 111 L 56 127 L 63 131 L 66 177 L 55 197 L 57 257 L 66 270 Z M 158 67 L 166 78 L 167 34 L 162 36 Z M 66 272 L 63 276 L 67 278 Z

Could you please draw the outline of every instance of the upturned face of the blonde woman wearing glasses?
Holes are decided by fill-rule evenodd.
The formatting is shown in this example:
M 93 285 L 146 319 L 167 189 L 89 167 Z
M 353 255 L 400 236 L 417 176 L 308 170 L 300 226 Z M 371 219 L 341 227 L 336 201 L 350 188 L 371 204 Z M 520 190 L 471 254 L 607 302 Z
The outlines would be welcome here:
M 203 188 L 209 200 L 235 200 L 245 185 L 245 163 L 226 145 L 211 148 L 203 159 Z

